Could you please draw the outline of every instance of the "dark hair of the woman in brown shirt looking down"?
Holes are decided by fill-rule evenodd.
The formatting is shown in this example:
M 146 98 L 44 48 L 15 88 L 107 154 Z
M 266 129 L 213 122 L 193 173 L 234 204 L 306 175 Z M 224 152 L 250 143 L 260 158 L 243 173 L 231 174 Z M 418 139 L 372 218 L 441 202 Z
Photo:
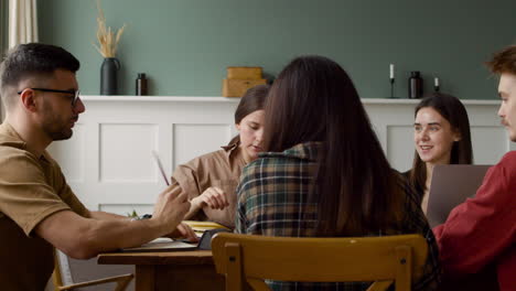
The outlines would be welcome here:
M 240 123 L 241 119 L 244 119 L 246 116 L 257 110 L 264 109 L 265 100 L 269 89 L 269 85 L 257 85 L 252 88 L 249 88 L 246 94 L 244 94 L 244 96 L 240 98 L 240 103 L 238 103 L 237 109 L 235 110 L 235 125 Z M 239 141 L 240 136 L 238 134 L 229 141 L 228 146 Z

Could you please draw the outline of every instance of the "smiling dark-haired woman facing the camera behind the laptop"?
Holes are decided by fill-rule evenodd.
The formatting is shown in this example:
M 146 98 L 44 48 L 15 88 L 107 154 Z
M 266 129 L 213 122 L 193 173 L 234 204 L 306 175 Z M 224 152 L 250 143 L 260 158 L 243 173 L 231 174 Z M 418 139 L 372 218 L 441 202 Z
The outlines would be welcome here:
M 427 213 L 428 193 L 436 164 L 471 164 L 470 120 L 461 100 L 451 95 L 427 95 L 415 110 L 412 169 L 404 173 Z

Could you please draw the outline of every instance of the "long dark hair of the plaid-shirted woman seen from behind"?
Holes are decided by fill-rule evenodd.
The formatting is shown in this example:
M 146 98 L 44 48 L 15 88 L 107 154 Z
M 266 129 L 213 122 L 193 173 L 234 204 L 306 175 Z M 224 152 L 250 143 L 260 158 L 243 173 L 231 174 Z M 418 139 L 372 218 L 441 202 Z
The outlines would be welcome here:
M 319 236 L 352 236 L 397 222 L 401 193 L 346 72 L 322 56 L 294 58 L 272 84 L 265 149 L 321 141 L 310 198 Z

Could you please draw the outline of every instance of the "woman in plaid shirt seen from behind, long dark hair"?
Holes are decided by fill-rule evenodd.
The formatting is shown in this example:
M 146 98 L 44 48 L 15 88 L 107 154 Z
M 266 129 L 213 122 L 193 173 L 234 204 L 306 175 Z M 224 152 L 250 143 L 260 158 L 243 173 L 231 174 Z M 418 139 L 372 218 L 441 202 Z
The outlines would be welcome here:
M 432 231 L 415 194 L 390 169 L 358 94 L 338 64 L 303 56 L 287 65 L 266 101 L 264 147 L 267 152 L 244 168 L 237 188 L 238 233 L 421 234 L 429 242 L 429 257 L 413 290 L 436 288 L 439 266 Z M 273 290 L 365 290 L 367 283 L 270 285 Z

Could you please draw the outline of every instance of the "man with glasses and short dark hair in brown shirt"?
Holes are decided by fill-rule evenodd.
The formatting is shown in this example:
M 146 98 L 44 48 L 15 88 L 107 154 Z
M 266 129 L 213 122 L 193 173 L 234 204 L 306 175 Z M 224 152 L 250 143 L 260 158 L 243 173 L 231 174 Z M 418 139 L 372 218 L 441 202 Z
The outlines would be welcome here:
M 22 44 L 0 66 L 7 116 L 0 126 L 0 289 L 43 290 L 53 247 L 73 258 L 142 245 L 176 228 L 190 208 L 186 195 L 163 191 L 150 219 L 90 212 L 78 201 L 45 151 L 69 139 L 85 107 L 75 72 L 79 62 L 62 47 Z

